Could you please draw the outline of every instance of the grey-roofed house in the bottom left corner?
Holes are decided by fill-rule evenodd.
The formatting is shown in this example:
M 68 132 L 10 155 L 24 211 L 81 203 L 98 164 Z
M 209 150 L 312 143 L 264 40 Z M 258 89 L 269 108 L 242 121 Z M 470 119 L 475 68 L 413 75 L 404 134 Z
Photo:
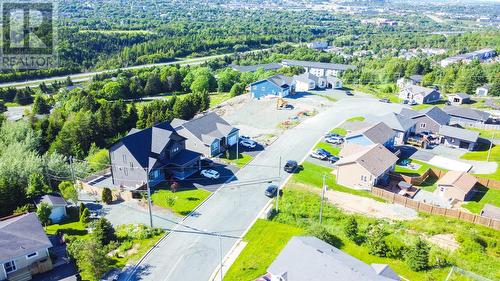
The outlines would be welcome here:
M 0 280 L 30 280 L 51 270 L 51 247 L 35 213 L 0 220 Z

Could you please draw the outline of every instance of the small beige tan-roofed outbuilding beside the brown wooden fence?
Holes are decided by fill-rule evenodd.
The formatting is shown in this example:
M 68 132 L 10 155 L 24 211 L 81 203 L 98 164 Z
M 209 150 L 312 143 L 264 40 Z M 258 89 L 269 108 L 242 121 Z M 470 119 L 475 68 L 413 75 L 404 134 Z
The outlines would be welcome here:
M 449 171 L 438 180 L 436 192 L 449 201 L 467 201 L 474 195 L 476 184 L 476 177 L 466 172 Z

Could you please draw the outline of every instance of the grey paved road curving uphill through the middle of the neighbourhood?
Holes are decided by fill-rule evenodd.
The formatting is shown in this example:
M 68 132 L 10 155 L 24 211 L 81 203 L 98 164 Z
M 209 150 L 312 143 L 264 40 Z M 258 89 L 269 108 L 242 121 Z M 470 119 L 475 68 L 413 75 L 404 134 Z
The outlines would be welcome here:
M 280 157 L 302 160 L 326 131 L 347 118 L 384 114 L 400 108 L 401 105 L 382 104 L 374 99 L 339 101 L 336 106 L 288 130 L 236 174 L 237 182 L 278 176 Z M 280 183 L 284 183 L 286 175 L 281 176 Z M 142 260 L 130 280 L 208 280 L 219 263 L 219 239 L 203 232 L 221 233 L 225 256 L 268 203 L 269 199 L 263 195 L 265 187 L 263 183 L 235 187 L 233 182 L 220 189 Z

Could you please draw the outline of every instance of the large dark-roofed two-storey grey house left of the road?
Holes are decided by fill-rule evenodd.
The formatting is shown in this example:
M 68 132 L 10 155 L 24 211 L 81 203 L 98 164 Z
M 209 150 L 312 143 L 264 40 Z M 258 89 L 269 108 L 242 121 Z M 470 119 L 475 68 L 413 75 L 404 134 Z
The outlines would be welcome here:
M 201 154 L 186 149 L 186 138 L 168 122 L 133 129 L 109 150 L 113 185 L 136 190 L 197 172 Z

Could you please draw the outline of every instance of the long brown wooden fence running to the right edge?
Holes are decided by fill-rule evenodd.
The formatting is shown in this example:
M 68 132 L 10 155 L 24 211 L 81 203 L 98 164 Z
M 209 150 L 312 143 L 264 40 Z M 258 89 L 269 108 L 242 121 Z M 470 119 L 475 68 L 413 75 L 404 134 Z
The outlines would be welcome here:
M 403 205 L 405 207 L 411 208 L 413 210 L 419 211 L 419 212 L 424 212 L 428 214 L 433 214 L 433 215 L 440 215 L 440 216 L 446 216 L 446 217 L 451 217 L 451 218 L 457 218 L 461 219 L 467 222 L 475 223 L 475 224 L 480 224 L 484 225 L 487 227 L 491 227 L 496 230 L 500 230 L 500 221 L 495 220 L 492 218 L 487 218 L 475 214 L 470 214 L 466 213 L 460 210 L 452 210 L 452 209 L 446 209 L 446 208 L 441 208 L 433 205 L 429 205 L 426 203 L 422 203 L 419 201 L 412 200 L 408 197 L 404 197 L 401 195 L 398 195 L 396 193 L 378 188 L 378 187 L 372 187 L 371 193 L 375 196 L 381 197 L 383 199 L 386 199 L 387 201 L 391 203 L 396 203 Z

